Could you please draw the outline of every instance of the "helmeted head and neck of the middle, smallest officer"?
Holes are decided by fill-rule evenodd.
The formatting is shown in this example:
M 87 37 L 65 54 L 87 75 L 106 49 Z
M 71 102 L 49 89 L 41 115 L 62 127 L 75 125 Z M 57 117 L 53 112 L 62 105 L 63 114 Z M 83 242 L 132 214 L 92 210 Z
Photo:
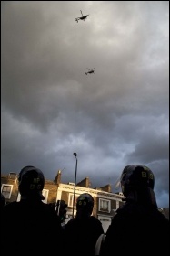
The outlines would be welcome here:
M 77 217 L 89 217 L 92 214 L 94 208 L 94 198 L 88 194 L 81 194 L 76 200 L 76 216 Z

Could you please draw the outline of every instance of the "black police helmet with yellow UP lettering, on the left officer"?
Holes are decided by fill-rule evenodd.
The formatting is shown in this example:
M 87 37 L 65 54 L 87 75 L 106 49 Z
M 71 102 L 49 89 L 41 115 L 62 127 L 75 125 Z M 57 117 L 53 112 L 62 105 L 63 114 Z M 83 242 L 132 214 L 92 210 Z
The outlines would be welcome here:
M 25 166 L 18 175 L 18 189 L 21 196 L 36 195 L 42 200 L 42 190 L 45 186 L 45 176 L 35 166 Z

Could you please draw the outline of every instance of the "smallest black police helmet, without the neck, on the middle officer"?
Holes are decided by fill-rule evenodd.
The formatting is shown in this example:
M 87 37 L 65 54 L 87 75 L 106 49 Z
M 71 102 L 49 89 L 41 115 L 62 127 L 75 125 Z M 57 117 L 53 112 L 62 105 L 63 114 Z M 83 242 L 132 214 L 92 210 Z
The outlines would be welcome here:
M 94 207 L 94 198 L 88 193 L 81 194 L 76 200 L 77 210 L 87 209 L 88 211 L 92 212 L 93 207 Z

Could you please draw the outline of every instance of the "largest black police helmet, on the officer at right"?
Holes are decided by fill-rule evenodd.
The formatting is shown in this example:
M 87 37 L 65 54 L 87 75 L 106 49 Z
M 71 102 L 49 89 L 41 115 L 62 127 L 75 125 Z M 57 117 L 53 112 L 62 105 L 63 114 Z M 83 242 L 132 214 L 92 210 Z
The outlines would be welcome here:
M 145 165 L 127 165 L 122 172 L 120 184 L 126 197 L 131 191 L 146 187 L 154 189 L 155 177 Z

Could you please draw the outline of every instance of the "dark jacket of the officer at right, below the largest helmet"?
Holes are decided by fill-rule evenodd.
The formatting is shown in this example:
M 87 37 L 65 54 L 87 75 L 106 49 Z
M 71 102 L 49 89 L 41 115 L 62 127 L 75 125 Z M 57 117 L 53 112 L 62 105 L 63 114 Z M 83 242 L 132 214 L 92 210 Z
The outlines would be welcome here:
M 106 232 L 101 255 L 169 255 L 169 221 L 155 207 L 126 203 Z

